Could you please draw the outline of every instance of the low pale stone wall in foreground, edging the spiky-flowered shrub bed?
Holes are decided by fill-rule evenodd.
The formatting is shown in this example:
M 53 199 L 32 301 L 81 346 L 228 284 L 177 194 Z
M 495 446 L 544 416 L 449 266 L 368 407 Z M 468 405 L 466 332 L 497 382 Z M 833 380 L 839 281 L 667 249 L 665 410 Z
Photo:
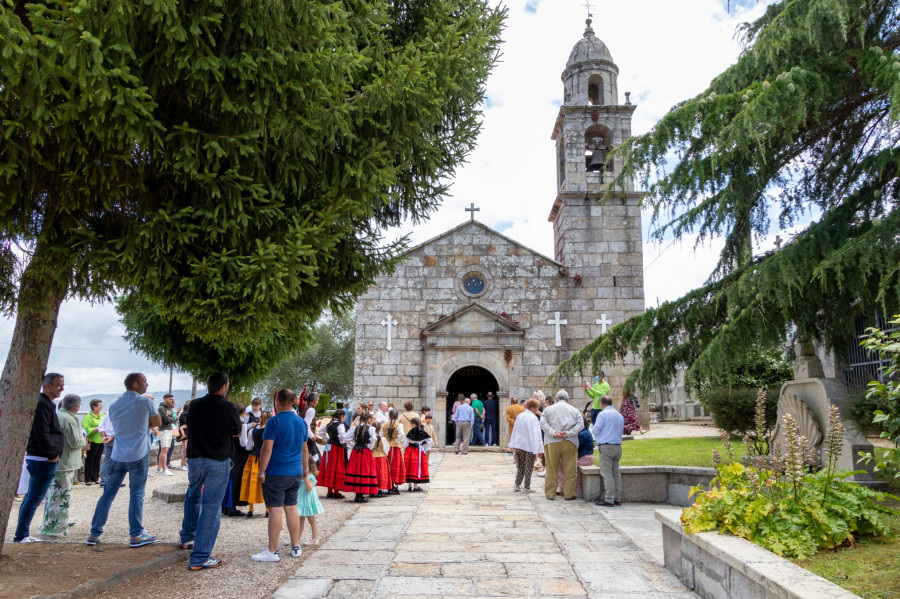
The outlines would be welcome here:
M 704 599 L 859 599 L 745 539 L 685 534 L 680 518 L 681 510 L 656 510 L 666 569 Z

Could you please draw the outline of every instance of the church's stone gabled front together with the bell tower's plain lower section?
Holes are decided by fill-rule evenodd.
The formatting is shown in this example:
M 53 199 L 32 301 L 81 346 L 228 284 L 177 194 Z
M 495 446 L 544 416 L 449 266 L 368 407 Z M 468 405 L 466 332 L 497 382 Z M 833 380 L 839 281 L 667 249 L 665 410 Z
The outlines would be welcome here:
M 395 405 L 412 399 L 417 408 L 432 406 L 440 434 L 446 383 L 458 368 L 478 365 L 495 376 L 501 418 L 510 396 L 529 397 L 535 389 L 553 392 L 547 377 L 600 334 L 597 319 L 605 314 L 618 323 L 643 310 L 640 258 L 635 257 L 641 251 L 637 207 L 585 204 L 565 210 L 566 219 L 571 219 L 566 254 L 570 259 L 565 267 L 477 222 L 411 250 L 393 275 L 380 278 L 358 302 L 355 397 Z M 623 223 L 638 227 L 637 241 L 595 239 L 600 233 L 592 224 L 609 227 L 610 237 L 618 239 Z M 475 297 L 462 285 L 469 273 L 482 275 L 486 283 L 484 292 Z M 619 286 L 613 284 L 614 276 L 621 278 Z M 478 327 L 493 325 L 484 322 L 472 324 L 471 330 L 461 328 L 456 336 L 423 334 L 429 325 L 472 303 L 508 317 L 524 334 L 515 342 L 499 328 L 486 335 Z M 559 347 L 556 328 L 548 324 L 556 312 L 567 321 L 560 327 Z M 389 313 L 391 322 L 397 323 L 390 350 L 385 324 Z M 614 397 L 621 397 L 631 368 L 631 360 L 607 368 Z M 575 405 L 586 401 L 583 382 L 561 381 Z M 505 428 L 500 427 L 504 442 Z

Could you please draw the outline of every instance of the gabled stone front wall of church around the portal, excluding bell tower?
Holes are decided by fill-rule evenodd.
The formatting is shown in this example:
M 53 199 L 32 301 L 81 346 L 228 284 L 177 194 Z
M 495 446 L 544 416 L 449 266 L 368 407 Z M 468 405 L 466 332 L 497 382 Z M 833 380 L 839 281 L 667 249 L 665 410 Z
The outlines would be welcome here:
M 463 290 L 463 277 L 470 272 L 484 277 L 485 291 L 480 296 L 472 297 Z M 522 356 L 508 364 L 511 380 L 498 383 L 503 396 L 530 396 L 531 390 L 545 387 L 546 377 L 568 355 L 566 328 L 561 330 L 563 346 L 557 348 L 555 327 L 547 320 L 556 311 L 566 318 L 573 286 L 555 261 L 478 223 L 468 223 L 423 244 L 408 254 L 393 275 L 379 279 L 357 304 L 354 395 L 395 404 L 395 400 L 407 398 L 436 401 L 425 389 L 424 355 L 429 348 L 420 339 L 422 329 L 476 302 L 507 314 L 525 329 Z M 388 313 L 397 321 L 390 350 L 387 327 L 382 324 Z M 458 352 L 476 349 L 461 346 Z M 480 349 L 504 353 L 502 345 Z M 468 362 L 476 363 L 475 356 Z M 441 391 L 436 390 L 438 397 Z

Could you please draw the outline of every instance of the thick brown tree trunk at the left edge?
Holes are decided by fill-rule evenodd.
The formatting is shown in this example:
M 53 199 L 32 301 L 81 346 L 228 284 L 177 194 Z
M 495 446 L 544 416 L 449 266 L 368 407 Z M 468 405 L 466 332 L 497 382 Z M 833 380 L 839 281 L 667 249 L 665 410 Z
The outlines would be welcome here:
M 6 530 L 22 472 L 25 445 L 47 368 L 59 307 L 66 296 L 68 264 L 38 242 L 19 285 L 16 326 L 0 376 L 0 530 Z M 65 373 L 61 373 L 65 375 Z M 3 538 L 0 535 L 0 552 Z

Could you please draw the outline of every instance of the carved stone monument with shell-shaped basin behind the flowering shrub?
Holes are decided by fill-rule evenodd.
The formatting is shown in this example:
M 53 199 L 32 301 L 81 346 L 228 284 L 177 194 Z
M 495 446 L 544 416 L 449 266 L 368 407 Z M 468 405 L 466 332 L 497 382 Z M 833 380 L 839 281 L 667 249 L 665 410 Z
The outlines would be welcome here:
M 781 387 L 778 396 L 778 424 L 773 439 L 785 446 L 783 418 L 791 414 L 800 425 L 800 434 L 807 440 L 807 447 L 817 449 L 819 464 L 824 466 L 824 438 L 828 428 L 828 413 L 832 405 L 841 412 L 844 423 L 844 440 L 841 443 L 841 457 L 837 462 L 838 470 L 863 470 L 853 475 L 850 480 L 866 483 L 875 480 L 871 465 L 867 466 L 859 457 L 861 451 L 872 451 L 872 444 L 856 427 L 856 423 L 843 418 L 849 411 L 847 388 L 837 379 L 825 378 L 822 362 L 816 356 L 811 343 L 798 343 L 795 346 L 797 361 L 794 364 L 794 380 Z

